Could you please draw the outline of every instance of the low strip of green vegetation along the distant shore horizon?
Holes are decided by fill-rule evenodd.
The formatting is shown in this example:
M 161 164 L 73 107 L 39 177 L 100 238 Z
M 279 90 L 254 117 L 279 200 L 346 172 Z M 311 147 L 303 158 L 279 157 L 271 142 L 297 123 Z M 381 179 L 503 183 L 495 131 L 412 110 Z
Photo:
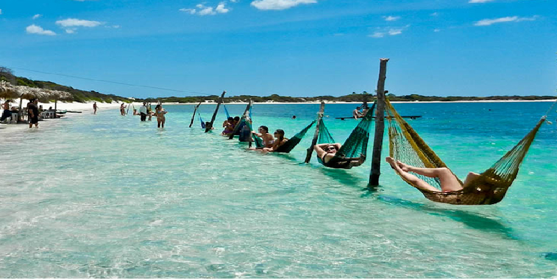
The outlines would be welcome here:
M 35 88 L 48 88 L 58 91 L 67 91 L 72 94 L 73 100 L 76 102 L 87 102 L 87 101 L 97 101 L 97 102 L 175 102 L 175 103 L 194 103 L 194 102 L 217 102 L 220 95 L 207 95 L 207 96 L 187 96 L 187 97 L 175 97 L 171 96 L 168 98 L 123 98 L 121 96 L 112 94 L 103 94 L 97 91 L 81 91 L 79 89 L 72 88 L 71 86 L 62 86 L 60 84 L 53 83 L 52 81 L 34 81 L 27 79 L 25 77 L 17 77 L 13 75 L 12 70 L 9 68 L 0 67 L 0 80 L 5 80 L 11 84 L 17 86 L 31 86 Z M 389 100 L 391 101 L 489 101 L 489 100 L 554 100 L 555 97 L 551 95 L 500 95 L 500 96 L 487 96 L 487 97 L 473 97 L 473 96 L 424 96 L 424 95 L 394 95 L 392 93 L 387 94 Z M 293 98 L 290 96 L 281 95 L 269 95 L 269 96 L 255 96 L 255 95 L 238 95 L 225 97 L 224 102 L 248 102 L 249 100 L 253 102 L 319 102 L 320 100 L 327 100 L 329 102 L 363 102 L 363 100 L 371 101 L 373 96 L 366 91 L 363 93 L 352 92 L 349 95 L 343 96 L 331 96 L 322 95 L 315 96 L 311 98 Z

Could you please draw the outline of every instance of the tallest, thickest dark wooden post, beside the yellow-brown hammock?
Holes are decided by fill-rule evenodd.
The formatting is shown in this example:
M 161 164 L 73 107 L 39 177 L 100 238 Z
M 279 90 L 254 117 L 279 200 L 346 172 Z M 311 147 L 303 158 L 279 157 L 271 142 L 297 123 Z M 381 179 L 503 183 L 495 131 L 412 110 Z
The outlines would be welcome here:
M 379 185 L 379 175 L 381 175 L 381 151 L 383 148 L 383 134 L 385 131 L 385 79 L 387 61 L 389 61 L 389 59 L 381 59 L 380 61 L 379 80 L 377 81 L 377 109 L 375 111 L 375 139 L 373 139 L 370 186 Z

